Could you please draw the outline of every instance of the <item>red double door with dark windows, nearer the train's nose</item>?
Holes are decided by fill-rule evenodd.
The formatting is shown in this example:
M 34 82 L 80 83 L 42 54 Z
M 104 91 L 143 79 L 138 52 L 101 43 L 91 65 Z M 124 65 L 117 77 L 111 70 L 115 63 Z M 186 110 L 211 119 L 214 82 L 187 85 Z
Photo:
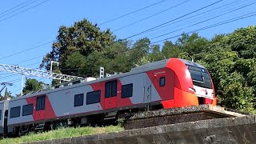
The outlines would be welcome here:
M 113 109 L 117 106 L 117 80 L 106 82 L 105 84 L 105 109 Z

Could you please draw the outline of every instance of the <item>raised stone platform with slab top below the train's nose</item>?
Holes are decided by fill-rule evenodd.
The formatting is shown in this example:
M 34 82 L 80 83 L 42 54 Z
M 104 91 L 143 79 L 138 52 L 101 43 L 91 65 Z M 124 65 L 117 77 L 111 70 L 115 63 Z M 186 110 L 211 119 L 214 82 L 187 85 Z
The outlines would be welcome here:
M 135 114 L 126 120 L 125 129 L 131 130 L 150 126 L 241 116 L 245 115 L 224 110 L 224 108 L 220 106 L 188 106 L 167 110 L 146 111 Z

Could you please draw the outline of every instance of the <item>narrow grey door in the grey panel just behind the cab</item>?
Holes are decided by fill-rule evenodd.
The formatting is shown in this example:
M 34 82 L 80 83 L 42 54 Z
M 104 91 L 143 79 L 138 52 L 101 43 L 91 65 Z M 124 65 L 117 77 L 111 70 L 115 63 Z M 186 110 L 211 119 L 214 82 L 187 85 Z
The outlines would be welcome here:
M 151 101 L 151 82 L 150 78 L 144 77 L 144 97 L 143 102 L 148 103 Z

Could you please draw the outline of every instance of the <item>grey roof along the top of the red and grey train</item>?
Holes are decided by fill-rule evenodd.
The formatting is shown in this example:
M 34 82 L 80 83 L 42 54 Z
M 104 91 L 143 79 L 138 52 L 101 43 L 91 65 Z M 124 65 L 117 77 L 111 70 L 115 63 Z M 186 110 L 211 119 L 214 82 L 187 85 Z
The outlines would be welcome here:
M 38 93 L 27 94 L 27 95 L 24 95 L 24 96 L 18 97 L 18 98 L 12 98 L 12 99 L 10 99 L 10 102 L 11 101 L 16 101 L 16 100 L 22 99 L 22 98 L 29 98 L 29 97 L 33 97 L 33 96 L 37 96 L 37 95 L 50 94 L 50 93 L 54 93 L 54 92 L 57 92 L 57 91 L 60 91 L 60 90 L 69 90 L 69 89 L 72 89 L 74 87 L 86 86 L 86 85 L 90 85 L 90 84 L 96 83 L 96 82 L 109 81 L 111 79 L 122 78 L 122 77 L 125 77 L 125 76 L 142 73 L 142 72 L 146 72 L 146 71 L 149 71 L 149 70 L 160 69 L 160 68 L 166 67 L 166 64 L 170 61 L 170 59 L 172 59 L 172 58 L 164 59 L 164 60 L 161 60 L 161 61 L 158 61 L 158 62 L 150 62 L 148 64 L 135 67 L 134 69 L 130 70 L 129 72 L 122 73 L 122 74 L 116 74 L 116 75 L 112 75 L 110 77 L 105 77 L 105 78 L 98 78 L 98 79 L 96 79 L 94 81 L 90 81 L 90 82 L 81 82 L 81 83 L 78 83 L 78 84 L 75 84 L 75 85 L 64 86 L 64 87 L 60 87 L 60 88 L 57 88 L 57 89 L 54 89 L 54 90 L 43 90 L 43 91 L 38 92 Z M 181 58 L 178 58 L 178 59 L 180 59 L 185 64 L 196 65 L 198 67 L 203 68 L 203 66 L 198 64 L 198 63 L 190 62 L 188 60 L 181 59 Z

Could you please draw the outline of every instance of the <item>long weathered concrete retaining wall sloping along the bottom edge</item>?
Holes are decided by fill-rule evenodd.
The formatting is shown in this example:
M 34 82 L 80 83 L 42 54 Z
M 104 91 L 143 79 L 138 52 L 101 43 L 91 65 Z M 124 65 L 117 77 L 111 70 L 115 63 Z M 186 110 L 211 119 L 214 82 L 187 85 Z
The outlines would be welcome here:
M 95 134 L 78 138 L 64 138 L 37 144 L 91 143 L 91 144 L 144 144 L 144 143 L 255 143 L 256 117 L 218 118 L 184 122 L 165 126 L 125 130 L 119 133 Z

